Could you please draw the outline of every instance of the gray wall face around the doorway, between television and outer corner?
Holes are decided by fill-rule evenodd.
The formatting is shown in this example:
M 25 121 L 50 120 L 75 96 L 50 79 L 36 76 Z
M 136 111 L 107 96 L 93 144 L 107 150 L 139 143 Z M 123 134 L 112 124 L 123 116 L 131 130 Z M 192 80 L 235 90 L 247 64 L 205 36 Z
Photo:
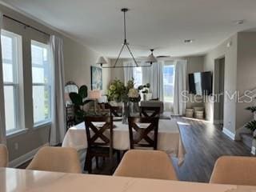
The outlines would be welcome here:
M 227 43 L 231 42 L 228 47 Z M 237 89 L 237 52 L 238 52 L 238 34 L 222 42 L 219 46 L 210 50 L 204 59 L 204 70 L 214 71 L 215 59 L 225 57 L 225 82 L 224 90 L 230 94 Z M 214 85 L 213 85 L 214 87 Z M 208 99 L 214 99 L 208 97 Z M 214 122 L 214 102 L 206 102 L 206 119 Z M 224 102 L 224 127 L 230 132 L 235 133 L 236 99 L 227 99 Z

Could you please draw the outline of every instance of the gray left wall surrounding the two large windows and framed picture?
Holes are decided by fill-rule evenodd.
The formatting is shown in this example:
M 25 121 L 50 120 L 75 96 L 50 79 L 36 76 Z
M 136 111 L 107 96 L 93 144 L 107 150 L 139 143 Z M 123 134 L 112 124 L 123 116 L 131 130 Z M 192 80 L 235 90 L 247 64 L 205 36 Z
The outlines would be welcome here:
M 73 80 L 78 85 L 86 84 L 90 87 L 90 66 L 93 65 L 100 56 L 94 50 L 90 50 L 86 46 L 82 46 L 78 42 L 59 34 L 56 30 L 52 30 L 49 27 L 43 26 L 30 18 L 26 18 L 22 14 L 14 10 L 6 8 L 6 6 L 0 5 L 0 11 L 3 14 L 7 14 L 10 17 L 17 18 L 18 20 L 25 22 L 31 26 L 35 26 L 49 34 L 58 34 L 64 41 L 64 56 L 65 56 L 65 75 L 66 81 Z M 3 28 L 10 30 L 16 34 L 22 35 L 22 69 L 23 69 L 23 86 L 24 86 L 24 125 L 25 131 L 14 134 L 7 138 L 7 147 L 10 152 L 10 161 L 19 158 L 20 156 L 29 153 L 32 150 L 46 144 L 49 137 L 50 125 L 42 126 L 38 129 L 33 128 L 33 106 L 32 106 L 32 78 L 31 78 L 31 59 L 30 59 L 30 39 L 37 40 L 39 42 L 48 42 L 49 37 L 38 33 L 30 28 L 24 28 L 24 26 L 4 18 Z M 110 79 L 108 70 L 103 70 L 103 88 L 106 89 L 107 83 Z M 2 75 L 2 74 L 0 74 Z M 14 146 L 18 145 L 18 149 Z

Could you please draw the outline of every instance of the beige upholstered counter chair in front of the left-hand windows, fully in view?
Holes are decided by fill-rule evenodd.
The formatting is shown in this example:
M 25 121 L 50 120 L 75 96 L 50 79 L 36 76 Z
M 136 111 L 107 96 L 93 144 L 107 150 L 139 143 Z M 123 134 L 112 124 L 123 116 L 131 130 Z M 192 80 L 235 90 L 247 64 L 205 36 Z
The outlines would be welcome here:
M 42 147 L 26 169 L 81 173 L 78 152 L 70 147 Z

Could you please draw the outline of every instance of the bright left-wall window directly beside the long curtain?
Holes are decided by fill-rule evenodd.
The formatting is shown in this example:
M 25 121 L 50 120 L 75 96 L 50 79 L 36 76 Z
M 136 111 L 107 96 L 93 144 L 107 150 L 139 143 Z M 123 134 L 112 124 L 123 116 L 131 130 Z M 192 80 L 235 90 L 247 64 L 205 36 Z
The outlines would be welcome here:
M 50 122 L 51 75 L 49 46 L 31 41 L 34 126 Z

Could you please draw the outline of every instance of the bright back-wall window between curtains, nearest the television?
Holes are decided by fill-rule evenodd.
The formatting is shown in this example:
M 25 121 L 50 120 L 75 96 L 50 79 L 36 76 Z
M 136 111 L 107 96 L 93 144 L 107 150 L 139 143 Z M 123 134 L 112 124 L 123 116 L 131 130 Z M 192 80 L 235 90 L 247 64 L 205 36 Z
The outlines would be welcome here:
M 174 65 L 163 67 L 163 94 L 165 102 L 174 102 Z

